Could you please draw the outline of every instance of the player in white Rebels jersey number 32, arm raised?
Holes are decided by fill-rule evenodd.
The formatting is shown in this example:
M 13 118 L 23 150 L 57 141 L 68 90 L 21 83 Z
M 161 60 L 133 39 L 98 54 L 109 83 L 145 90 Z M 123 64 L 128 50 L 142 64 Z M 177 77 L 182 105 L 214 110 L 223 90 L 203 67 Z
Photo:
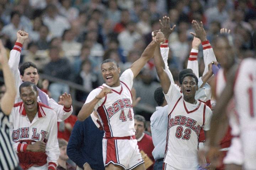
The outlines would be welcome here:
M 196 169 L 199 132 L 201 128 L 209 130 L 212 111 L 194 98 L 198 90 L 196 75 L 183 76 L 182 95 L 165 72 L 160 46 L 155 50 L 154 62 L 169 108 L 163 169 Z

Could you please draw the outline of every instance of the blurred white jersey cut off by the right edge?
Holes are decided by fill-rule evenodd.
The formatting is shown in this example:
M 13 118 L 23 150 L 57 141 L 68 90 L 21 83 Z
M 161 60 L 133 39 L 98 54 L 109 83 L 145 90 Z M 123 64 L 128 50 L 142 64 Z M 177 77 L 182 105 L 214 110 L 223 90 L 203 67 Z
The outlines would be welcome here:
M 234 84 L 236 109 L 241 130 L 256 130 L 256 60 L 240 63 Z

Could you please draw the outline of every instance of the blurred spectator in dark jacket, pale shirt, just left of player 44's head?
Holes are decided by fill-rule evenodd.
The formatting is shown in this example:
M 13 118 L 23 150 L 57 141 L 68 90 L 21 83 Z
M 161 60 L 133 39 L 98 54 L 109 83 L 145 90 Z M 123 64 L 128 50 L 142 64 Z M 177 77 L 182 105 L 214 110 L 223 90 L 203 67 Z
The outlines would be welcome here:
M 92 72 L 91 62 L 89 60 L 82 61 L 81 71 L 75 76 L 74 83 L 82 85 L 86 91 L 76 91 L 76 100 L 80 102 L 85 102 L 89 93 L 98 87 L 98 77 Z

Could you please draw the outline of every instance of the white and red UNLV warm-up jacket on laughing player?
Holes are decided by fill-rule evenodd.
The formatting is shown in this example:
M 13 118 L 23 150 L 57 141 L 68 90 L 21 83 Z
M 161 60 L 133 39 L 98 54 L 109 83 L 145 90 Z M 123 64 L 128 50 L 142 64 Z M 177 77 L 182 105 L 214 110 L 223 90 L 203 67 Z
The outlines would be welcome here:
M 56 113 L 48 106 L 37 103 L 38 112 L 32 122 L 27 117 L 23 102 L 16 103 L 12 108 L 10 122 L 13 124 L 13 147 L 22 169 L 55 170 L 60 154 Z M 26 151 L 29 144 L 37 141 L 46 143 L 46 152 Z

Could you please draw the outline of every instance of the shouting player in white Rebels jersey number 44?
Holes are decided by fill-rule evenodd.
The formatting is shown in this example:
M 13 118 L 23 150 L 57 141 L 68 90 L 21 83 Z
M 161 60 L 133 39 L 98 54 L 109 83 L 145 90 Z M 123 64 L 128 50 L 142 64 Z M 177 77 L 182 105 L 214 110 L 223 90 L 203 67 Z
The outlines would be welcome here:
M 119 77 L 120 68 L 114 60 L 103 61 L 101 72 L 106 83 L 89 94 L 78 114 L 78 120 L 83 121 L 93 110 L 98 112 L 105 130 L 102 145 L 103 160 L 107 170 L 145 169 L 134 136 L 130 90 L 133 79 L 153 57 L 155 47 L 162 41 L 164 41 L 164 35 L 159 35 L 150 42 L 142 56 L 132 64 L 130 69 L 124 71 L 121 77 Z

